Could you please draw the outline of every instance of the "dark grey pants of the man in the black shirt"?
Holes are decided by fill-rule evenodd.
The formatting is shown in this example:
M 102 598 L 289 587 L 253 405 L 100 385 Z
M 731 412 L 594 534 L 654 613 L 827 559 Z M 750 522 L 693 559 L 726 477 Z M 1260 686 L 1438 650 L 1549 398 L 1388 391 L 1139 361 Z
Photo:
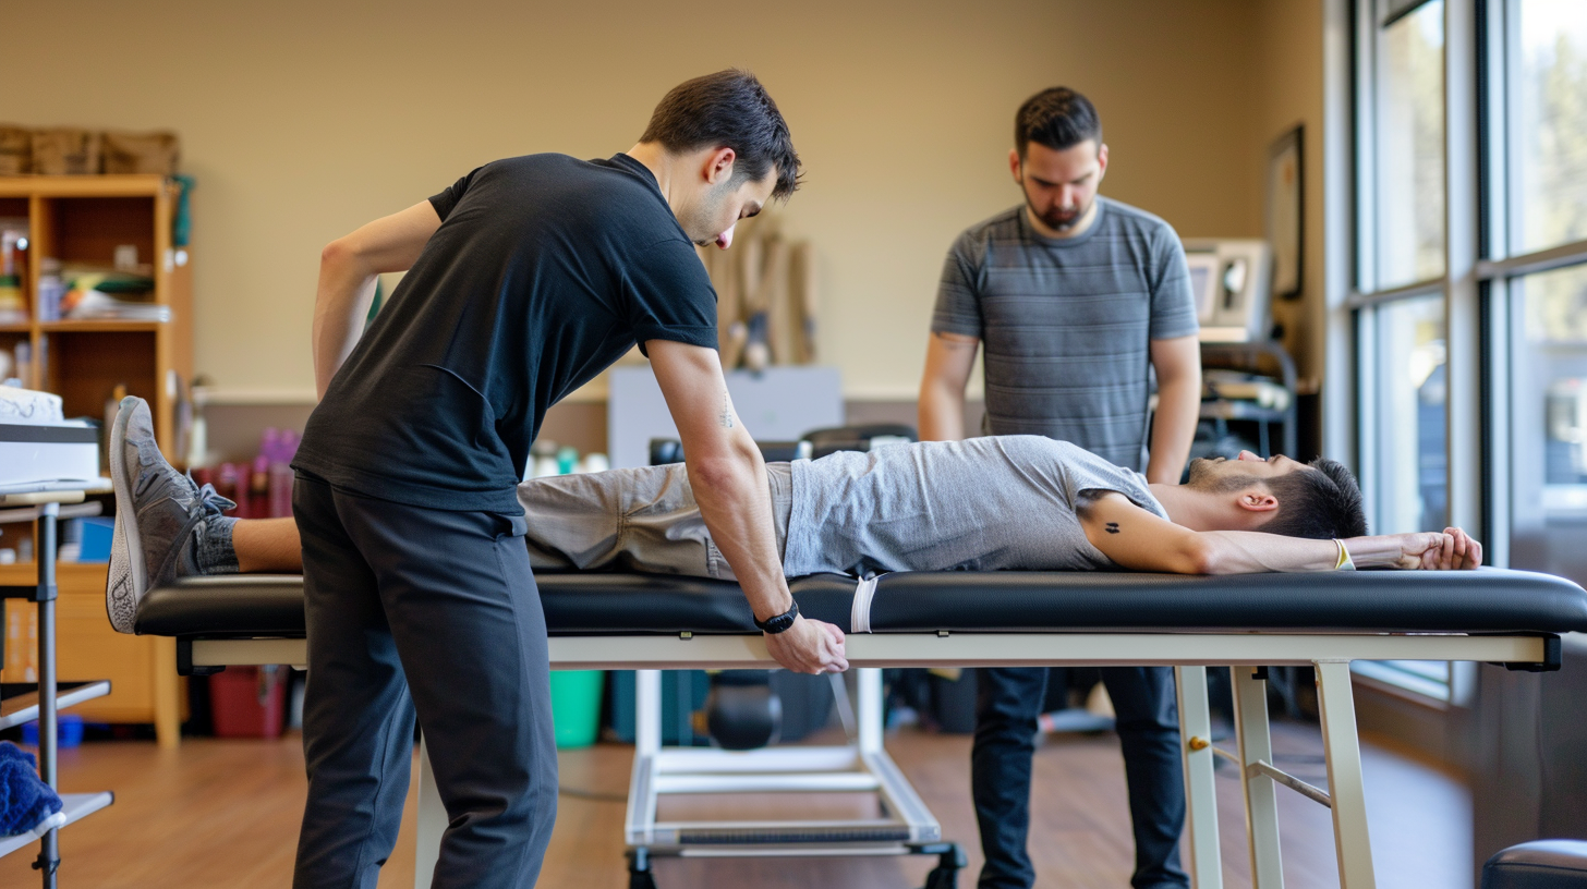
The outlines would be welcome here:
M 533 886 L 557 749 L 524 518 L 406 506 L 303 475 L 292 513 L 309 667 L 294 886 L 375 887 L 416 713 L 448 816 L 432 886 Z

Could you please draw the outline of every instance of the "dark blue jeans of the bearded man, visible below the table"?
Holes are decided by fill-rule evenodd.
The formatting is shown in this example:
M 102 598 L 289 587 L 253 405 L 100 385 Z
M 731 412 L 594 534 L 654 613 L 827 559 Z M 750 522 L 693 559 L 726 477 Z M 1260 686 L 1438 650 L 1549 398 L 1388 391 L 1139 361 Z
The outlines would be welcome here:
M 970 760 L 981 827 L 979 889 L 1025 889 L 1036 881 L 1025 848 L 1030 832 L 1030 768 L 1046 667 L 976 670 L 976 741 Z M 1185 821 L 1179 714 L 1171 667 L 1106 667 L 1101 681 L 1117 716 L 1119 746 L 1135 827 L 1135 889 L 1190 886 L 1179 867 Z

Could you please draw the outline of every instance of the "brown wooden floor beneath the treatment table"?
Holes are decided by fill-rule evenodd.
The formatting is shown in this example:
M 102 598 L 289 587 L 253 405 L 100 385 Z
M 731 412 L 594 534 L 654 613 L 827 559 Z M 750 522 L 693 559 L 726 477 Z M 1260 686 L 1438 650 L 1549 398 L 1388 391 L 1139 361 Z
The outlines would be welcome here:
M 836 738 L 817 738 L 835 743 Z M 970 738 L 901 730 L 889 751 L 943 822 L 963 843 L 970 870 L 959 886 L 974 886 L 981 865 L 970 808 Z M 1274 725 L 1279 765 L 1325 784 L 1316 727 Z M 562 754 L 560 814 L 540 886 L 625 889 L 624 797 L 632 748 L 598 745 Z M 1378 886 L 1384 889 L 1466 889 L 1473 884 L 1470 797 L 1454 778 L 1406 756 L 1363 745 L 1368 810 Z M 152 741 L 106 741 L 63 751 L 67 791 L 116 791 L 116 805 L 62 832 L 63 887 L 286 887 L 302 814 L 303 754 L 295 735 L 279 741 L 186 740 L 176 751 Z M 1117 740 L 1054 738 L 1036 752 L 1032 854 L 1039 886 L 1125 889 L 1132 843 Z M 1225 884 L 1249 886 L 1239 781 L 1219 770 L 1219 832 Z M 819 803 L 819 805 L 816 805 Z M 1328 811 L 1297 794 L 1279 792 L 1284 879 L 1289 889 L 1338 886 Z M 381 887 L 413 886 L 414 797 Z M 871 816 L 873 805 L 825 795 L 792 808 L 787 797 L 743 803 L 697 797 L 662 816 Z M 0 886 L 37 884 L 32 851 L 0 859 Z M 662 889 L 822 886 L 832 889 L 911 889 L 935 859 L 741 859 L 655 864 Z

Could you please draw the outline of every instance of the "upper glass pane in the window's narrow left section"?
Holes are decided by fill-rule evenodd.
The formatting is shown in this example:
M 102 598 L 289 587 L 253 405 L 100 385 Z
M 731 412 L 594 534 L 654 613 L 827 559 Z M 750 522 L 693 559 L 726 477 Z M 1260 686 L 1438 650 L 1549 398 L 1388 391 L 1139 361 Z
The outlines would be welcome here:
M 1444 3 L 1378 33 L 1378 281 L 1444 273 Z

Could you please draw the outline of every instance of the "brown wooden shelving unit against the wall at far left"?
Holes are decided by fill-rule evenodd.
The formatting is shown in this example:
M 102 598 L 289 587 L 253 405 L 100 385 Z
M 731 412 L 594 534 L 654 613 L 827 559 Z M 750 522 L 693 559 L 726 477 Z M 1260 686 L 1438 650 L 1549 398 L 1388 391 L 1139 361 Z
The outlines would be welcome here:
M 29 324 L 0 325 L 0 349 L 30 344 L 29 381 L 62 397 L 68 418 L 105 419 L 105 405 L 124 386 L 149 402 L 165 456 L 175 452 L 178 394 L 192 379 L 192 248 L 178 246 L 179 186 L 165 176 L 0 176 L 0 217 L 29 221 L 22 297 Z M 46 257 L 113 267 L 117 246 L 136 249 L 151 267 L 154 302 L 170 306 L 165 322 L 40 319 L 40 275 Z M 38 533 L 3 525 L 0 546 Z M 175 746 L 183 686 L 170 640 L 129 637 L 105 614 L 103 564 L 60 564 L 60 678 L 113 681 L 113 694 L 76 708 L 102 722 L 154 722 L 162 746 Z M 33 564 L 0 565 L 0 586 L 37 583 Z M 6 676 L 8 681 L 19 676 Z

